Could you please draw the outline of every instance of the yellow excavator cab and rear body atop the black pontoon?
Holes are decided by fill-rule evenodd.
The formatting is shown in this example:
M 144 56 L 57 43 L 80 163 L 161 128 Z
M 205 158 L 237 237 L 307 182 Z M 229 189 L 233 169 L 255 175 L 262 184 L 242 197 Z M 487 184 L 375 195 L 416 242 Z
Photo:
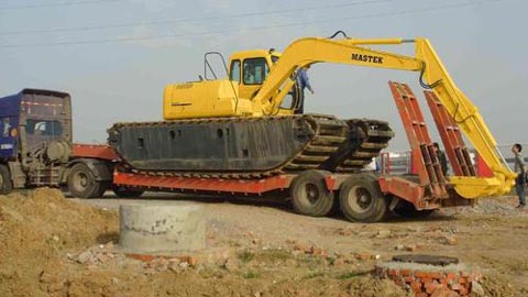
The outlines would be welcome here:
M 208 56 L 220 56 L 227 78 L 218 78 Z M 164 92 L 165 120 L 222 117 L 260 117 L 261 101 L 253 100 L 280 54 L 273 48 L 234 53 L 226 65 L 220 53 L 205 55 L 199 81 L 168 85 Z M 278 114 L 293 114 L 296 92 L 285 98 Z

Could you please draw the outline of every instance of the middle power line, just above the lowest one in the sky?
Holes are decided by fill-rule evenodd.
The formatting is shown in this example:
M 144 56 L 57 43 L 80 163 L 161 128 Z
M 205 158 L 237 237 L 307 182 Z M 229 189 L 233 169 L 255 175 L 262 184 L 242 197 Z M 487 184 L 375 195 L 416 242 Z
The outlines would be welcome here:
M 273 10 L 273 11 L 261 11 L 261 12 L 244 12 L 235 13 L 228 15 L 215 15 L 215 16 L 194 16 L 179 20 L 164 20 L 164 21 L 146 21 L 146 22 L 133 22 L 133 23 L 123 23 L 123 24 L 108 24 L 108 25 L 91 25 L 91 26 L 77 26 L 77 28 L 56 28 L 50 30 L 28 30 L 28 31 L 13 31 L 13 32 L 0 32 L 0 36 L 7 35 L 28 35 L 28 34 L 47 34 L 47 33 L 57 33 L 57 32 L 78 32 L 78 31 L 94 31 L 94 30 L 106 30 L 106 29 L 118 29 L 118 28 L 131 28 L 131 26 L 145 26 L 145 25 L 160 25 L 160 24 L 175 24 L 175 23 L 185 23 L 185 22 L 198 22 L 198 21 L 210 21 L 219 19 L 238 19 L 238 18 L 249 18 L 249 16 L 262 16 L 262 15 L 273 15 L 273 14 L 288 14 L 293 12 L 305 12 L 322 9 L 339 9 L 348 8 L 355 6 L 364 4 L 376 4 L 382 2 L 391 2 L 393 0 L 366 0 L 366 1 L 356 1 L 341 4 L 330 4 L 330 6 L 318 6 L 318 7 L 308 7 L 300 9 L 287 9 L 287 10 Z

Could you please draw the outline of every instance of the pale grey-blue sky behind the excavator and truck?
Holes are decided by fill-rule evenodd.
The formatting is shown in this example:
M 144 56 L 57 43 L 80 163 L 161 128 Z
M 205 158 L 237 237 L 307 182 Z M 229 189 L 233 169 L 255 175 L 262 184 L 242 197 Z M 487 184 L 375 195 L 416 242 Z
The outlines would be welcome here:
M 105 143 L 114 122 L 163 120 L 165 86 L 196 80 L 206 52 L 280 51 L 338 30 L 421 36 L 497 142 L 528 143 L 526 11 L 522 0 L 0 0 L 0 97 L 67 91 L 74 140 Z M 380 48 L 413 54 L 411 45 Z M 309 77 L 306 112 L 388 121 L 392 151 L 408 144 L 387 81 L 409 84 L 439 140 L 416 73 L 317 64 Z

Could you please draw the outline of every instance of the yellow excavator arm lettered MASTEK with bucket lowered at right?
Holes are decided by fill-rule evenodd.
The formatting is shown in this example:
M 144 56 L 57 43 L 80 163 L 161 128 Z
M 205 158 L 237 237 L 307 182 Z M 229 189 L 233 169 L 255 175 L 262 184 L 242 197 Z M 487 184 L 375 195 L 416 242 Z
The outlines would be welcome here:
M 365 45 L 415 44 L 415 56 L 372 50 Z M 432 89 L 448 113 L 462 129 L 474 148 L 492 169 L 490 178 L 452 176 L 450 183 L 465 198 L 497 196 L 509 193 L 515 184 L 514 174 L 497 150 L 479 109 L 454 85 L 433 47 L 426 38 L 358 40 L 301 38 L 290 44 L 270 72 L 260 91 L 253 98 L 255 116 L 278 113 L 280 103 L 295 84 L 298 68 L 315 63 L 338 63 L 365 67 L 420 72 L 422 87 Z

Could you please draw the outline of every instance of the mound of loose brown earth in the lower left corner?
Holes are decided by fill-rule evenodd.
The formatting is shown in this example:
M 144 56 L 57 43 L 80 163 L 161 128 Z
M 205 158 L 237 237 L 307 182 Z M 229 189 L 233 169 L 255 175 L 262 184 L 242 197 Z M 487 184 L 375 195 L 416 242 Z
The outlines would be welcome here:
M 66 200 L 56 189 L 0 196 L 0 292 L 35 296 L 47 266 L 69 250 L 105 242 L 118 232 L 118 217 Z

